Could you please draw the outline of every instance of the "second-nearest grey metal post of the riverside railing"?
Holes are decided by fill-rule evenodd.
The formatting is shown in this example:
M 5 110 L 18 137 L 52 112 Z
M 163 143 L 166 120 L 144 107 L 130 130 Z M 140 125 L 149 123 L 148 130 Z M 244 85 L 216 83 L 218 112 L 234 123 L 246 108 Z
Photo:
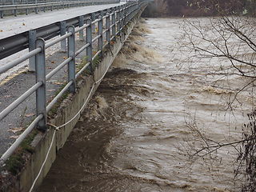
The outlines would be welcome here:
M 68 64 L 68 79 L 69 82 L 73 81 L 73 84 L 70 86 L 70 92 L 74 93 L 75 91 L 75 47 L 74 47 L 74 26 L 69 26 L 68 32 L 71 32 L 72 35 L 68 38 L 68 57 L 72 57 L 72 60 Z

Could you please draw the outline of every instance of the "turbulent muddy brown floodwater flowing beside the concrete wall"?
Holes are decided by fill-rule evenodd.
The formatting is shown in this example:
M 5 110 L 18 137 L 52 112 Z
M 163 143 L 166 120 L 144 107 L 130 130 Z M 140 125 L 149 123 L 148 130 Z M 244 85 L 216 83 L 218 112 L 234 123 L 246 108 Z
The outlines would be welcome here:
M 196 151 L 242 138 L 249 90 L 232 113 L 226 103 L 247 80 L 214 74 L 223 59 L 194 59 L 182 25 L 148 18 L 135 27 L 38 191 L 239 190 L 234 146 Z

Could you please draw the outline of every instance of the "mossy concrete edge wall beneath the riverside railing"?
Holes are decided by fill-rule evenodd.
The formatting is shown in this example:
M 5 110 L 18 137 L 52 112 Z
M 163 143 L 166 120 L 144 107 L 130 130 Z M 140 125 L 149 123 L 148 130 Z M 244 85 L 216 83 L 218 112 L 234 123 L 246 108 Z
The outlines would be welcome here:
M 138 14 L 140 15 L 140 14 Z M 121 37 L 117 37 L 114 45 L 111 46 L 111 51 L 108 51 L 102 61 L 97 66 L 94 71 L 93 76 L 87 76 L 80 78 L 78 82 L 78 88 L 75 94 L 70 94 L 68 98 L 66 98 L 62 105 L 58 108 L 57 115 L 50 119 L 50 123 L 55 126 L 62 126 L 66 122 L 68 122 L 71 118 L 73 118 L 78 111 L 82 108 L 84 103 L 86 102 L 86 98 L 89 97 L 91 88 L 94 86 L 92 90 L 92 94 L 94 94 L 95 90 L 99 83 L 94 85 L 95 81 L 98 81 L 105 74 L 105 71 L 108 69 L 108 66 L 112 64 L 115 56 L 118 54 L 119 50 L 122 48 L 124 40 L 130 34 L 130 31 L 133 29 L 137 19 L 134 19 L 134 22 L 130 23 L 130 26 L 126 27 L 126 34 L 122 34 Z M 86 108 L 86 106 L 84 106 Z M 84 109 L 82 109 L 84 110 Z M 51 147 L 49 156 L 46 160 L 45 166 L 42 168 L 42 173 L 40 174 L 37 182 L 35 183 L 34 190 L 42 183 L 43 178 L 45 178 L 46 174 L 50 170 L 52 163 L 54 162 L 57 152 L 62 146 L 64 146 L 66 139 L 69 137 L 70 132 L 73 130 L 75 124 L 78 122 L 80 118 L 80 114 L 72 122 L 63 126 L 59 130 L 57 130 L 56 135 L 54 137 L 54 142 Z M 26 165 L 23 167 L 20 174 L 15 181 L 14 188 L 15 191 L 30 191 L 30 187 L 33 185 L 35 178 L 38 175 L 39 170 L 42 167 L 42 163 L 45 161 L 47 151 L 50 148 L 50 143 L 52 141 L 54 135 L 54 127 L 50 126 L 50 128 L 46 131 L 46 133 L 39 133 L 34 138 L 32 142 L 32 146 L 34 146 L 34 153 L 26 162 Z

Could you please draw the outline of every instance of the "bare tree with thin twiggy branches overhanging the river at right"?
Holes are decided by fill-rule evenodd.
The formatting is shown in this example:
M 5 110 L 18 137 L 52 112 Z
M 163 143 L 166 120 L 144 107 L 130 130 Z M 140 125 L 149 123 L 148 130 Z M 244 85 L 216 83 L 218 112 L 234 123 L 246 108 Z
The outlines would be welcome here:
M 217 5 L 217 4 L 216 4 Z M 252 112 L 248 114 L 249 121 L 242 129 L 242 139 L 235 142 L 217 142 L 204 136 L 196 122 L 186 122 L 201 141 L 200 147 L 194 148 L 190 157 L 204 158 L 223 146 L 234 146 L 238 151 L 238 167 L 235 176 L 244 178 L 242 191 L 256 190 L 256 110 L 254 110 L 254 88 L 256 81 L 256 18 L 248 15 L 230 14 L 216 6 L 220 16 L 209 18 L 208 25 L 202 19 L 186 19 L 184 25 L 184 46 L 192 55 L 190 59 L 218 59 L 218 65 L 210 66 L 209 74 L 228 78 L 238 75 L 244 79 L 244 85 L 232 89 L 226 102 L 226 110 L 233 110 L 234 102 L 239 101 L 243 90 L 250 93 Z M 209 25 L 210 23 L 210 25 Z M 245 119 L 246 122 L 246 119 Z

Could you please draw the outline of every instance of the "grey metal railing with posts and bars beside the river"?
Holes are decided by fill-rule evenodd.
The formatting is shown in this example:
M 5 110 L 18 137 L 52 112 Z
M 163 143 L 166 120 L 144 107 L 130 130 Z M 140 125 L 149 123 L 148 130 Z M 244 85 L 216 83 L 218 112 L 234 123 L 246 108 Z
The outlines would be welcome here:
M 46 31 L 50 29 L 51 33 L 48 34 L 49 36 L 54 36 L 53 34 L 61 34 L 60 25 L 55 23 L 50 26 L 46 26 L 43 29 L 36 30 L 37 38 L 35 39 L 35 48 L 31 50 L 28 54 L 23 55 L 21 58 L 10 62 L 7 66 L 0 68 L 0 74 L 5 72 L 6 70 L 10 70 L 12 67 L 17 66 L 19 63 L 25 61 L 26 59 L 35 57 L 35 70 L 36 70 L 36 83 L 32 86 L 26 93 L 22 94 L 17 100 L 15 100 L 10 106 L 6 107 L 5 110 L 2 110 L 0 113 L 0 121 L 6 117 L 15 107 L 21 104 L 26 98 L 36 92 L 36 110 L 37 110 L 37 117 L 34 121 L 26 128 L 26 130 L 19 136 L 18 139 L 14 142 L 12 146 L 6 153 L 2 155 L 0 158 L 0 162 L 5 162 L 11 154 L 13 154 L 14 150 L 21 144 L 24 138 L 28 134 L 30 134 L 31 130 L 34 129 L 35 126 L 38 126 L 38 130 L 45 131 L 47 129 L 46 126 L 46 115 L 47 112 L 54 106 L 54 104 L 58 101 L 58 98 L 61 98 L 62 95 L 65 93 L 66 90 L 69 90 L 70 93 L 73 93 L 76 89 L 76 79 L 82 72 L 85 70 L 90 70 L 93 72 L 93 61 L 98 56 L 103 56 L 103 50 L 105 48 L 110 48 L 110 45 L 114 43 L 115 38 L 117 36 L 121 36 L 121 34 L 125 31 L 125 26 L 134 18 L 138 11 L 141 10 L 149 1 L 141 0 L 139 2 L 130 2 L 126 3 L 122 6 L 116 6 L 112 10 L 101 11 L 101 14 L 94 13 L 94 14 L 86 14 L 82 15 L 79 18 L 80 22 L 78 22 L 78 18 L 73 18 L 66 22 L 62 22 L 64 24 L 68 23 L 69 27 L 65 30 L 65 33 L 62 34 L 60 37 L 50 41 L 48 43 L 45 42 L 44 38 L 47 38 Z M 98 15 L 97 19 L 94 19 L 94 16 Z M 86 19 L 86 22 L 84 22 Z M 103 23 L 105 23 L 106 29 L 103 28 Z M 98 33 L 93 36 L 93 28 L 94 25 L 98 25 Z M 66 27 L 64 28 L 66 29 Z M 86 44 L 82 46 L 79 50 L 75 52 L 75 35 L 79 32 L 79 38 L 83 39 L 83 30 L 86 29 Z M 40 31 L 40 33 L 38 32 Z M 27 33 L 26 33 L 27 34 Z M 38 35 L 42 34 L 42 36 Z M 14 39 L 18 39 L 17 36 Z M 67 45 L 67 52 L 68 58 L 61 64 L 59 64 L 54 70 L 52 70 L 49 74 L 46 75 L 46 49 L 50 46 L 53 46 L 57 42 L 66 42 L 66 38 L 68 39 Z M 24 38 L 26 40 L 26 38 Z M 18 42 L 21 40 L 18 39 Z M 22 40 L 22 42 L 26 42 Z M 97 42 L 97 52 L 93 54 L 93 43 Z M 12 44 L 16 42 L 13 41 Z M 28 42 L 26 42 L 28 43 Z M 1 44 L 2 45 L 2 44 Z M 76 74 L 75 72 L 75 58 L 78 54 L 82 53 L 82 51 L 86 50 L 86 64 L 82 67 L 81 70 L 78 71 Z M 47 106 L 46 103 L 46 81 L 49 80 L 56 74 L 60 69 L 64 66 L 68 66 L 68 82 L 66 86 L 62 89 L 62 91 L 50 102 Z

